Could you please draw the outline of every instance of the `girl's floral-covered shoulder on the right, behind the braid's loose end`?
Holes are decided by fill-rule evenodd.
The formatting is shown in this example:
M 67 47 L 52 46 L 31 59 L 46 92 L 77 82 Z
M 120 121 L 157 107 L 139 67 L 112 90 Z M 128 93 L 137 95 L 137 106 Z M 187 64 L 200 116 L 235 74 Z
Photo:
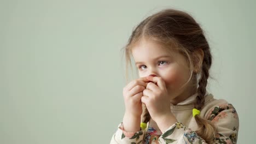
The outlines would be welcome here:
M 217 128 L 216 141 L 236 143 L 239 119 L 235 107 L 224 99 L 214 99 L 208 95 L 201 117 L 208 119 Z

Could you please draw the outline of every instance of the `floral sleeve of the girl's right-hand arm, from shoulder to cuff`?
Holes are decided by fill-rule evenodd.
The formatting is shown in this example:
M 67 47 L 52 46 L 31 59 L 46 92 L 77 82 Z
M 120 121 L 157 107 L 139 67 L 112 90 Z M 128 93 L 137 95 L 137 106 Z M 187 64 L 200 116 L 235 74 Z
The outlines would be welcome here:
M 238 134 L 238 116 L 231 104 L 216 105 L 209 110 L 206 118 L 212 121 L 218 134 L 211 143 L 236 143 Z M 181 122 L 174 123 L 163 133 L 159 143 L 206 143 L 195 131 L 187 129 Z

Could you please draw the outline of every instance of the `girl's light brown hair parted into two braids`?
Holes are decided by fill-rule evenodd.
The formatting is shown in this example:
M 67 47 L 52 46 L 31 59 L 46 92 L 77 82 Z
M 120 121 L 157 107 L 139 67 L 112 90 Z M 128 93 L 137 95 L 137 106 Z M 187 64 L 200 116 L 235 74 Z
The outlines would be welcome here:
M 194 107 L 197 110 L 201 110 L 205 105 L 206 86 L 212 64 L 212 55 L 210 46 L 208 45 L 200 25 L 188 13 L 175 9 L 164 9 L 148 16 L 133 29 L 129 41 L 123 48 L 126 57 L 126 80 L 128 76 L 127 69 L 129 65 L 132 65 L 131 49 L 142 39 L 153 40 L 158 44 L 164 45 L 168 50 L 178 50 L 178 52 L 187 58 L 188 67 L 190 68 L 188 82 L 195 77 L 198 78 L 198 95 Z M 202 63 L 199 63 L 200 60 L 194 57 L 194 54 L 198 52 L 197 50 L 199 49 L 201 49 L 204 54 Z M 195 65 L 200 65 L 200 73 L 193 72 Z M 185 83 L 185 85 L 187 83 Z M 143 110 L 142 117 L 144 123 L 147 123 L 150 119 L 146 107 Z M 196 115 L 195 119 L 199 126 L 196 130 L 197 135 L 201 136 L 207 143 L 211 143 L 214 139 L 214 134 L 216 134 L 214 124 L 199 115 Z

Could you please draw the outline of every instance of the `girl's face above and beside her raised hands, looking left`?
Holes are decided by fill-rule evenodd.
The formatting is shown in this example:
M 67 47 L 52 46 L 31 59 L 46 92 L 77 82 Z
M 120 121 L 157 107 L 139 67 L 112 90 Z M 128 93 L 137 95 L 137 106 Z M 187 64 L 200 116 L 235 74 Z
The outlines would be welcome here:
M 181 89 L 188 81 L 190 71 L 187 60 L 180 53 L 170 53 L 159 44 L 142 40 L 132 48 L 132 56 L 139 77 L 154 74 L 165 81 L 172 104 L 176 105 L 191 95 L 192 89 L 188 87 L 190 83 Z

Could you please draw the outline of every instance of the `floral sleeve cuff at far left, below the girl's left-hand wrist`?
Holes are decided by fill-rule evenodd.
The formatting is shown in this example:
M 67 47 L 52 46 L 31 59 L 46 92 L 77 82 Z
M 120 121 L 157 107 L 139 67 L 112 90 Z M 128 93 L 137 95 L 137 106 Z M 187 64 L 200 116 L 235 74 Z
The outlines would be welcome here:
M 131 143 L 131 144 L 142 144 L 145 130 L 140 130 L 135 133 L 126 132 L 123 129 L 123 123 L 120 123 L 118 126 L 117 132 L 112 136 L 110 144 L 118 144 L 118 143 Z

